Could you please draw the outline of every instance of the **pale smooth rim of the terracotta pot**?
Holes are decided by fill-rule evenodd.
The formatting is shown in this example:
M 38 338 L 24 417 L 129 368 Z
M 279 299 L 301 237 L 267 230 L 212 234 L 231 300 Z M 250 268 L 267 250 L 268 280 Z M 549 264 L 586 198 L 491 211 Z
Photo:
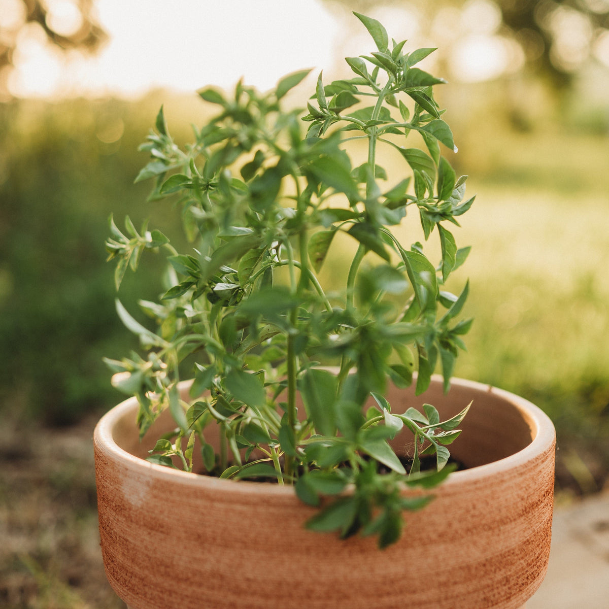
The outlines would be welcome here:
M 432 381 L 442 382 L 440 375 L 433 375 Z M 188 386 L 191 381 L 184 381 L 180 385 Z M 518 466 L 524 465 L 527 462 L 535 459 L 549 448 L 555 440 L 554 424 L 550 418 L 539 407 L 525 400 L 515 393 L 510 393 L 504 389 L 498 389 L 493 385 L 487 385 L 481 382 L 468 381 L 466 379 L 452 378 L 451 385 L 462 387 L 463 389 L 471 389 L 477 392 L 491 393 L 492 395 L 509 402 L 515 407 L 526 423 L 529 425 L 532 435 L 532 441 L 525 448 L 514 454 L 499 459 L 485 465 L 478 465 L 467 470 L 453 472 L 443 485 L 455 485 L 468 482 L 475 482 L 486 479 L 493 474 L 499 474 L 506 470 L 513 470 Z M 204 476 L 201 474 L 190 473 L 182 470 L 174 470 L 163 465 L 150 463 L 145 459 L 136 457 L 130 452 L 125 451 L 114 442 L 113 429 L 116 423 L 122 417 L 133 410 L 135 417 L 138 403 L 135 397 L 128 398 L 109 410 L 96 425 L 93 434 L 93 441 L 102 454 L 105 454 L 110 460 L 121 462 L 128 466 L 131 470 L 136 470 L 142 476 L 150 476 L 155 479 L 169 478 L 174 482 L 180 482 L 185 485 L 202 485 L 209 489 L 223 490 L 230 493 L 245 493 L 247 495 L 280 495 L 294 496 L 294 488 L 292 486 L 280 486 L 265 482 L 250 482 L 225 480 L 212 476 Z

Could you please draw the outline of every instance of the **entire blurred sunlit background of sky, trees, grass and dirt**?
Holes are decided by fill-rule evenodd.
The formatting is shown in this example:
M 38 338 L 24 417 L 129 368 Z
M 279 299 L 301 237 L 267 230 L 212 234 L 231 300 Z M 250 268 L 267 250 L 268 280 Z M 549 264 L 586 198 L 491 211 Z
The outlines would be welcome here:
M 372 50 L 351 10 L 411 48 L 438 47 L 424 67 L 448 80 L 451 163 L 477 193 L 455 233 L 473 245 L 456 280 L 470 277 L 476 318 L 457 375 L 551 415 L 565 501 L 606 487 L 609 0 L 0 0 L 0 458 L 43 454 L 49 474 L 40 495 L 0 478 L 0 539 L 7 514 L 20 532 L 0 550 L 0 604 L 121 607 L 96 563 L 74 438 L 88 446 L 87 425 L 122 399 L 102 356 L 136 348 L 114 313 L 107 218 L 177 231 L 172 208 L 133 185 L 158 107 L 185 141 L 210 111 L 202 86 L 243 77 L 265 90 L 314 68 L 296 103 L 320 70 L 348 76 L 342 58 Z M 157 296 L 155 264 L 127 276 L 131 311 Z M 44 434 L 68 439 L 57 452 Z M 37 536 L 45 518 L 55 532 Z M 43 589 L 46 605 L 27 604 Z

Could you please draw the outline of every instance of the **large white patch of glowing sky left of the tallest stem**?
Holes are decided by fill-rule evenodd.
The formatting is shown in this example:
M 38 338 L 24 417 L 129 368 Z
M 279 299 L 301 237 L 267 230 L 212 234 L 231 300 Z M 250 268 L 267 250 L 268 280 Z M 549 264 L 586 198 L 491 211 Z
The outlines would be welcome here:
M 6 0 L 0 0 L 0 2 Z M 66 0 L 51 0 L 65 10 Z M 69 3 L 67 3 L 69 4 Z M 284 74 L 331 65 L 339 24 L 317 0 L 98 0 L 99 21 L 110 34 L 93 58 L 62 66 L 30 30 L 9 81 L 21 95 L 119 94 L 154 86 L 193 91 L 245 81 L 262 90 Z M 66 16 L 66 19 L 68 17 Z M 49 52 L 50 51 L 50 52 Z

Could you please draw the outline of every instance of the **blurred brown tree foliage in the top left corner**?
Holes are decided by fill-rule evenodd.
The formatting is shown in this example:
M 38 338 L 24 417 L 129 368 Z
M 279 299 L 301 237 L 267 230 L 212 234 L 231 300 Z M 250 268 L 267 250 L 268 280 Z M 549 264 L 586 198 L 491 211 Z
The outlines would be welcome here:
M 94 0 L 0 0 L 0 72 L 13 64 L 19 32 L 38 24 L 58 48 L 94 51 L 106 34 L 97 23 Z M 0 99 L 9 99 L 0 78 Z

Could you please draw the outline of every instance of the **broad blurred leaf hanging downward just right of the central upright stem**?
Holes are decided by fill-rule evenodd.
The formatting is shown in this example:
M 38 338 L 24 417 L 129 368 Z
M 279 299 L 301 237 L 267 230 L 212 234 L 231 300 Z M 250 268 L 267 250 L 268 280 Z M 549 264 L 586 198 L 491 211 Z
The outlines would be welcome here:
M 309 368 L 300 382 L 306 412 L 319 434 L 336 432 L 336 376 L 327 370 Z

